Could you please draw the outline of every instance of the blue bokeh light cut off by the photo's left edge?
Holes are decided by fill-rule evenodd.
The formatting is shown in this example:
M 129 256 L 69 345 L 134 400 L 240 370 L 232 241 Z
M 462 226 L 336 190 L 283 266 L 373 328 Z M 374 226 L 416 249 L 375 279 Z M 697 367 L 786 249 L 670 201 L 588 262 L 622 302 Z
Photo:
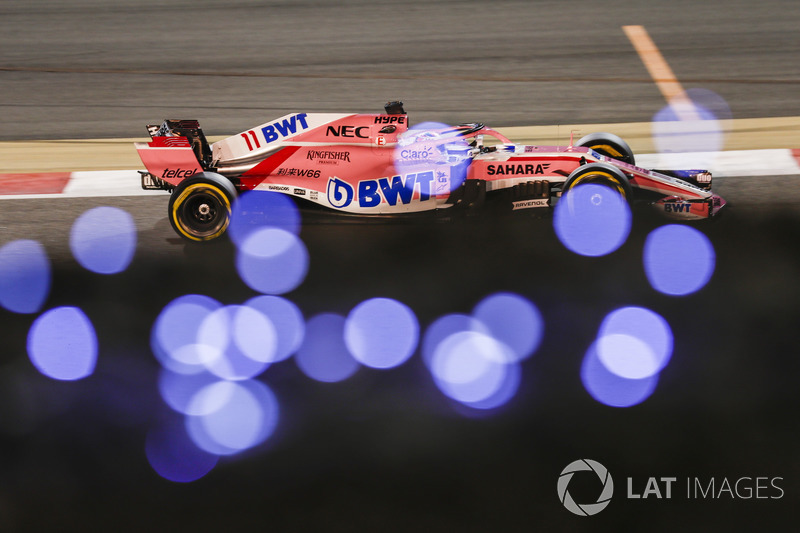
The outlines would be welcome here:
M 44 247 L 16 240 L 0 248 L 0 305 L 14 313 L 36 313 L 50 295 L 52 272 Z

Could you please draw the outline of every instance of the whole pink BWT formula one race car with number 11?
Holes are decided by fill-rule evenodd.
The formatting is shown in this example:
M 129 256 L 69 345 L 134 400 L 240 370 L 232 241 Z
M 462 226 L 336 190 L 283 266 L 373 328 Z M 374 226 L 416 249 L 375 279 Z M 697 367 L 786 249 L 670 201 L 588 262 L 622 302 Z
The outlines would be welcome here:
M 136 143 L 142 187 L 171 192 L 170 223 L 193 241 L 221 236 L 237 195 L 253 190 L 360 215 L 544 209 L 585 183 L 683 219 L 725 204 L 708 171 L 637 167 L 613 134 L 521 146 L 479 123 L 410 127 L 402 102 L 380 114 L 292 113 L 211 145 L 196 120 L 147 129 L 152 141 Z

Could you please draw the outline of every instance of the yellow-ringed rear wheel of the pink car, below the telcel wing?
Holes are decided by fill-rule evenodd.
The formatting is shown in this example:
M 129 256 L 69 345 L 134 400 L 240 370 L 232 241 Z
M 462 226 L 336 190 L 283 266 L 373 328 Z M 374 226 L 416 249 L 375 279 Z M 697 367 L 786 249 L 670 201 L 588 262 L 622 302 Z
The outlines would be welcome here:
M 169 199 L 169 221 L 175 232 L 195 242 L 216 239 L 231 220 L 236 188 L 219 174 L 203 172 L 182 181 Z

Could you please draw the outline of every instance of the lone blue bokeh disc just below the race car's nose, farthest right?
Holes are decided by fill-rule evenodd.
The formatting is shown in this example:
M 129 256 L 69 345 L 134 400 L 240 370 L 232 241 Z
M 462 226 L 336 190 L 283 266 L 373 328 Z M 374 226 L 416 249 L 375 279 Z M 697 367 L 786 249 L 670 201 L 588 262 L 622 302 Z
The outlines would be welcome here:
M 644 271 L 650 285 L 663 294 L 685 296 L 702 289 L 715 266 L 711 241 L 689 226 L 662 226 L 645 240 Z

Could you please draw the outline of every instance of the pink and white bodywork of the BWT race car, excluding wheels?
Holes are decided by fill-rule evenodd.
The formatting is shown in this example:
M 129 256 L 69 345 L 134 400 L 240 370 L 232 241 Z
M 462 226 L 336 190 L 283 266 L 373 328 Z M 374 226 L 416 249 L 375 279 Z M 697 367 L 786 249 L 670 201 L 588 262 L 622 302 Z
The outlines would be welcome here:
M 294 113 L 214 143 L 212 171 L 240 191 L 271 190 L 342 211 L 384 214 L 450 207 L 447 199 L 465 171 L 491 192 L 533 180 L 560 184 L 579 166 L 601 161 L 621 168 L 632 187 L 663 194 L 655 205 L 666 214 L 677 213 L 676 205 L 685 218 L 714 212 L 705 201 L 713 197 L 709 191 L 588 148 L 517 146 L 490 128 L 459 128 L 413 139 L 418 130 L 409 131 L 404 114 Z M 475 137 L 481 146 L 484 136 L 494 138 L 496 149 L 467 146 Z M 461 155 L 440 161 L 451 146 Z M 184 137 L 154 137 L 136 147 L 148 172 L 170 185 L 203 171 Z

